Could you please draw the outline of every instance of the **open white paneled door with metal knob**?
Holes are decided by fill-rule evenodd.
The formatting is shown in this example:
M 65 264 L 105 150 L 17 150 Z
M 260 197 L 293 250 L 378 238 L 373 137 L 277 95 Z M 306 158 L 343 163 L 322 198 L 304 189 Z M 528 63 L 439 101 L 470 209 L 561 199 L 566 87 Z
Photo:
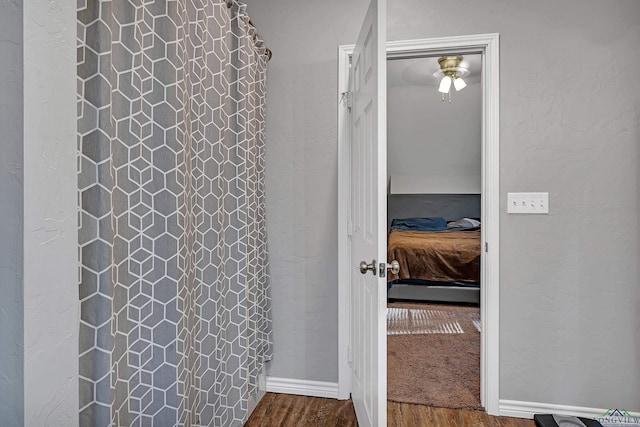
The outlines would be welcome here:
M 361 427 L 387 422 L 386 61 L 386 0 L 371 0 L 350 78 L 351 397 Z

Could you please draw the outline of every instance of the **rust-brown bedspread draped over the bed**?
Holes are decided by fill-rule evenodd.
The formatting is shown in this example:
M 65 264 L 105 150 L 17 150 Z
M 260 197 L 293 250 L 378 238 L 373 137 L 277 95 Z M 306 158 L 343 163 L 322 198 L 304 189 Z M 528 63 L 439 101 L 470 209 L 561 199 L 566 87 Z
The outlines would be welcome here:
M 392 230 L 387 260 L 400 263 L 388 280 L 421 279 L 439 282 L 480 281 L 480 228 L 443 231 Z

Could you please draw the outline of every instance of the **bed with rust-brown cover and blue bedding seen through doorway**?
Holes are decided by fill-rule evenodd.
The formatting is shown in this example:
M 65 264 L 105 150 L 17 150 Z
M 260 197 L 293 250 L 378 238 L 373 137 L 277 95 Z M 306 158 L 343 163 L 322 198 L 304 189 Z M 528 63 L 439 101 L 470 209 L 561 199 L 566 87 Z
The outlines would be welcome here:
M 447 224 L 442 218 L 394 220 L 387 259 L 400 264 L 389 274 L 390 299 L 478 303 L 480 226 L 468 218 Z

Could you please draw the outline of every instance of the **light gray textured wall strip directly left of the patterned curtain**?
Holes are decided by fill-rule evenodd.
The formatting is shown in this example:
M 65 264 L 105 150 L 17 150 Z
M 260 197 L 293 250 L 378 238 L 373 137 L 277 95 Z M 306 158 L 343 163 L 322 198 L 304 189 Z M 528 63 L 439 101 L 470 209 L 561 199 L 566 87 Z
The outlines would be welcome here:
M 24 420 L 78 425 L 76 2 L 24 4 Z

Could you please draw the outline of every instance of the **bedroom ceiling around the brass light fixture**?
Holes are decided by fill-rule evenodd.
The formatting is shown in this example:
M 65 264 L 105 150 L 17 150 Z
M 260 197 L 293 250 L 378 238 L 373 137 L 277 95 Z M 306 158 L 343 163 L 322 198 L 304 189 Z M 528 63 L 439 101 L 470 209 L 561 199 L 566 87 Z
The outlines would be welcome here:
M 464 80 L 467 84 L 480 83 L 481 54 L 463 55 L 461 66 L 469 70 Z M 440 82 L 434 73 L 440 70 L 438 56 L 427 58 L 389 59 L 387 61 L 387 83 L 389 86 L 434 86 Z

